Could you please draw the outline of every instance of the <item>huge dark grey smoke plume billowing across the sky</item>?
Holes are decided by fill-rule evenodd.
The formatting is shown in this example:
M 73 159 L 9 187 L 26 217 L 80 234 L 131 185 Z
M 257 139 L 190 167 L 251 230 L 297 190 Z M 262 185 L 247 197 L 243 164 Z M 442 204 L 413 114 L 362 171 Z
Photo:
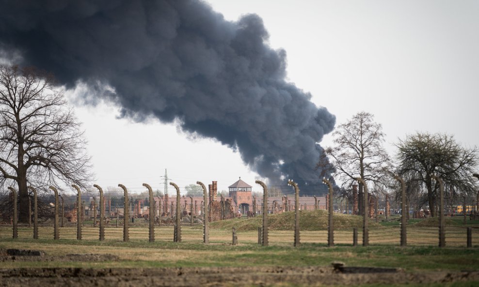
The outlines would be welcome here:
M 19 51 L 23 64 L 67 87 L 108 84 L 114 93 L 89 100 L 107 97 L 139 120 L 177 119 L 184 131 L 238 149 L 275 183 L 284 184 L 283 175 L 303 191 L 319 188 L 317 143 L 335 117 L 286 82 L 286 52 L 266 44 L 259 16 L 229 22 L 198 0 L 0 0 L 0 7 L 0 47 Z

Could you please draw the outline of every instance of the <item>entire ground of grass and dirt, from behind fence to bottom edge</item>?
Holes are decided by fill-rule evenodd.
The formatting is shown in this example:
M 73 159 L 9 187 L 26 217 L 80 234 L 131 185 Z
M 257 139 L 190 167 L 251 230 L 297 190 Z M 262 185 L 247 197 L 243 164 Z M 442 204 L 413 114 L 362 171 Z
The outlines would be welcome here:
M 0 287 L 473 287 L 479 286 L 479 225 L 468 226 L 472 248 L 458 224 L 447 226 L 447 248 L 438 248 L 434 223 L 408 226 L 408 247 L 401 248 L 396 221 L 371 228 L 368 247 L 360 246 L 361 234 L 352 247 L 352 228 L 338 228 L 331 248 L 324 229 L 302 230 L 299 247 L 292 230 L 270 230 L 266 247 L 248 228 L 232 245 L 229 226 L 212 228 L 210 244 L 203 244 L 201 227 L 183 227 L 175 243 L 171 226 L 156 227 L 155 242 L 144 227 L 130 228 L 129 242 L 122 241 L 122 227 L 109 227 L 99 242 L 97 227 L 84 227 L 77 241 L 75 227 L 60 228 L 60 240 L 53 240 L 52 227 L 40 227 L 33 240 L 32 228 L 20 227 L 12 239 L 11 227 L 0 226 Z M 333 268 L 337 260 L 345 267 Z

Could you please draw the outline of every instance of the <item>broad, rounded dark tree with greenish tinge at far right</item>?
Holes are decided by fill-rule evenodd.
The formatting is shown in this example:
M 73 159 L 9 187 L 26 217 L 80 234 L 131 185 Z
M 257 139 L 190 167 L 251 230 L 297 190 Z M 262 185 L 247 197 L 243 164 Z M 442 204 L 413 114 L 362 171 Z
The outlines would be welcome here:
M 398 172 L 410 181 L 425 186 L 431 216 L 435 215 L 437 182 L 431 175 L 441 177 L 451 197 L 474 193 L 474 169 L 478 165 L 478 148 L 465 149 L 453 136 L 444 134 L 416 133 L 399 140 L 397 144 Z

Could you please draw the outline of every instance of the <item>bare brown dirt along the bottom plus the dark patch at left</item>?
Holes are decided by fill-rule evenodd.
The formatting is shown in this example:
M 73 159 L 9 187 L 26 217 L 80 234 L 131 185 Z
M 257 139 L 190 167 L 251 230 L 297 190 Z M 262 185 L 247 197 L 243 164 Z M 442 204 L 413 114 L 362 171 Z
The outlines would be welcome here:
M 0 249 L 0 262 L 74 262 L 111 264 L 111 254 L 46 255 L 43 251 Z M 405 272 L 397 268 L 352 267 L 186 267 L 186 268 L 5 268 L 0 287 L 85 286 L 356 286 L 373 284 L 443 284 L 479 282 L 479 271 Z M 471 285 L 473 286 L 473 285 Z

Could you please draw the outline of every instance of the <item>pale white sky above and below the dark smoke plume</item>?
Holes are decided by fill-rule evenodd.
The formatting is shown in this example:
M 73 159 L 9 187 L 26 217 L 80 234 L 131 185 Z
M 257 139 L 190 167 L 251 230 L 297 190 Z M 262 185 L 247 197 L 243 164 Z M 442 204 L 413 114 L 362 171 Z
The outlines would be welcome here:
M 260 15 L 270 45 L 287 51 L 288 80 L 312 93 L 343 123 L 375 115 L 394 153 L 415 131 L 453 134 L 479 145 L 479 1 L 208 0 L 228 20 Z M 116 119 L 117 108 L 76 106 L 93 156 L 96 183 L 163 190 L 168 176 L 184 186 L 218 181 L 218 190 L 258 175 L 240 155 L 210 140 L 191 140 L 173 124 Z M 331 144 L 326 136 L 323 146 Z M 169 187 L 169 193 L 174 192 Z

